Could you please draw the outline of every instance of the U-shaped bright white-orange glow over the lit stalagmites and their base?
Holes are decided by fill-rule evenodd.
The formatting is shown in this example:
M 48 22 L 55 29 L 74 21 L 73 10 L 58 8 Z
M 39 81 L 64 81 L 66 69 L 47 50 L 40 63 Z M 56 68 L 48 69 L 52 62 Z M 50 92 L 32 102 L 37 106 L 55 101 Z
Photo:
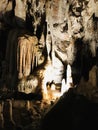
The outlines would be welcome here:
M 67 73 L 66 73 L 66 82 L 65 79 L 62 80 L 61 91 L 56 90 L 56 84 L 53 82 L 54 73 L 53 73 L 53 66 L 50 60 L 48 60 L 45 71 L 44 71 L 44 79 L 42 84 L 43 90 L 43 99 L 56 100 L 60 96 L 62 96 L 65 92 L 72 87 L 72 72 L 71 66 L 67 65 Z M 47 84 L 50 83 L 50 84 Z

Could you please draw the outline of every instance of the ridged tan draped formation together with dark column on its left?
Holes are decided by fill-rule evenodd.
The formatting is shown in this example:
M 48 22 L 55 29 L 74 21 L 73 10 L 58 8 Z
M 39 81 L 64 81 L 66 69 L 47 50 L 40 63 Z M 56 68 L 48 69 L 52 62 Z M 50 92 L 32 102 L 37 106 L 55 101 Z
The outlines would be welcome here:
M 43 37 L 43 36 L 42 36 Z M 23 29 L 13 29 L 9 32 L 6 47 L 6 57 L 3 64 L 2 78 L 11 87 L 18 79 L 33 74 L 34 68 L 44 62 L 43 38 L 38 41 L 36 36 L 28 34 Z M 6 75 L 7 74 L 7 75 Z

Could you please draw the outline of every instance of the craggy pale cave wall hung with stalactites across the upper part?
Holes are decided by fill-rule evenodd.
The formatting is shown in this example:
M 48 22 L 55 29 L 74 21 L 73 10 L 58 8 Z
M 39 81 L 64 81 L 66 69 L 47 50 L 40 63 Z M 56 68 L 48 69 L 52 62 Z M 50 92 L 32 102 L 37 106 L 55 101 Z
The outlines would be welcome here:
M 32 46 L 38 49 L 30 53 L 27 49 L 30 48 L 29 37 L 34 36 L 38 43 Z M 25 38 L 20 42 L 19 37 Z M 29 65 L 28 74 L 22 73 L 23 78 L 35 73 L 33 69 L 45 65 L 46 60 L 51 60 L 55 83 L 66 79 L 67 64 L 72 66 L 74 85 L 81 77 L 88 81 L 92 66 L 98 65 L 98 1 L 1 0 L 0 40 L 1 84 L 7 82 L 11 87 L 17 84 L 20 79 L 17 68 L 26 70 L 21 59 Z M 32 60 L 31 54 L 34 54 Z

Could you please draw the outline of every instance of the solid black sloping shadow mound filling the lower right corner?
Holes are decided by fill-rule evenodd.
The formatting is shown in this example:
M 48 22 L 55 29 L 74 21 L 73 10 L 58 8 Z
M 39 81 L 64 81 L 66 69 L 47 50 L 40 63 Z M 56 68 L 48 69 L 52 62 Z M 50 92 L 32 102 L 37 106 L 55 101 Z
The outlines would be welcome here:
M 93 130 L 98 128 L 97 121 L 98 103 L 69 89 L 43 117 L 42 130 Z

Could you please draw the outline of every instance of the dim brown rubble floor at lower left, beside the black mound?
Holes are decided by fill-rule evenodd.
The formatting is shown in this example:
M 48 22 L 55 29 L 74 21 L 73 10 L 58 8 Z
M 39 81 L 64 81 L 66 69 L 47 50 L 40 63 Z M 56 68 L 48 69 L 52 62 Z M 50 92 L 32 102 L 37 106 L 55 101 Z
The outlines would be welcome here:
M 49 106 L 50 104 L 43 100 L 2 100 L 0 101 L 0 129 L 40 130 L 41 120 Z

